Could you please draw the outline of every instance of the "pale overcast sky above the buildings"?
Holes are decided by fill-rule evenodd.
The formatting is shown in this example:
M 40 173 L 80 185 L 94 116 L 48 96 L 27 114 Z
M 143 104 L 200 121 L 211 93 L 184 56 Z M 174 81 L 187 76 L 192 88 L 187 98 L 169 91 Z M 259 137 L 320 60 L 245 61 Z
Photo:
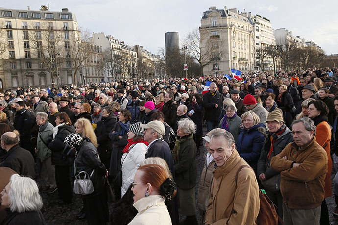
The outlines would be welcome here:
M 2 1 L 0 7 L 39 10 L 48 1 Z M 50 11 L 68 8 L 80 27 L 112 35 L 127 45 L 140 45 L 152 53 L 164 47 L 164 33 L 179 32 L 180 40 L 201 24 L 203 11 L 237 8 L 266 17 L 273 29 L 286 28 L 293 36 L 319 45 L 327 55 L 338 54 L 338 0 L 54 0 Z

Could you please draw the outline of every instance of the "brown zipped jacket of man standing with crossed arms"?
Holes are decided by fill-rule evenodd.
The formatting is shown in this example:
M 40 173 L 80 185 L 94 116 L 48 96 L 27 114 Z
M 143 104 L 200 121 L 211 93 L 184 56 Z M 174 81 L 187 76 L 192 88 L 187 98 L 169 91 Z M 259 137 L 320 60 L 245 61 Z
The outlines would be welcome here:
M 288 160 L 283 157 L 286 156 Z M 281 172 L 281 192 L 288 208 L 312 209 L 324 200 L 324 179 L 327 173 L 327 154 L 316 138 L 303 149 L 295 142 L 271 159 L 271 168 Z M 300 163 L 291 168 L 291 164 Z

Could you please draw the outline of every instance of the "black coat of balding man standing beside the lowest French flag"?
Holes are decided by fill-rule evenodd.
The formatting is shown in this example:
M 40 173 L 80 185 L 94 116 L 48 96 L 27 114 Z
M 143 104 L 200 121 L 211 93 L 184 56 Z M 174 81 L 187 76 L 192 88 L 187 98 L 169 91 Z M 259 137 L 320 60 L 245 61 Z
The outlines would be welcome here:
M 207 121 L 217 121 L 220 113 L 222 111 L 223 105 L 223 95 L 219 92 L 216 92 L 214 95 L 210 90 L 203 96 L 203 107 L 205 109 L 204 118 Z M 218 104 L 218 107 L 215 107 L 215 104 Z

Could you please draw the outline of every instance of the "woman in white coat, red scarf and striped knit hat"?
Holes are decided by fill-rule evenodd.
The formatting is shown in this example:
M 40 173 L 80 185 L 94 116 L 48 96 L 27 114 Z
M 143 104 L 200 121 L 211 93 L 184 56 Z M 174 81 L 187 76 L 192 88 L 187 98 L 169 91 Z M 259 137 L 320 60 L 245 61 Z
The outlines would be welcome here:
M 144 130 L 140 125 L 141 122 L 138 122 L 130 125 L 128 128 L 128 144 L 123 149 L 121 159 L 121 197 L 127 192 L 129 186 L 134 181 L 135 173 L 140 167 L 141 162 L 145 160 L 146 147 L 149 145 L 147 141 L 143 140 Z

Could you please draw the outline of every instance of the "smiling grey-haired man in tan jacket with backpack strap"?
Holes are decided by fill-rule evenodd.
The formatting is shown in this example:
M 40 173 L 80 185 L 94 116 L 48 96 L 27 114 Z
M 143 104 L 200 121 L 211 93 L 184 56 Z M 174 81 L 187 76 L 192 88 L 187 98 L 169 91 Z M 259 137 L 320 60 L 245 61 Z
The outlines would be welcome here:
M 217 168 L 205 225 L 255 225 L 260 209 L 259 188 L 254 171 L 236 151 L 234 137 L 222 130 L 212 135 L 209 148 Z M 238 178 L 236 180 L 236 173 Z

